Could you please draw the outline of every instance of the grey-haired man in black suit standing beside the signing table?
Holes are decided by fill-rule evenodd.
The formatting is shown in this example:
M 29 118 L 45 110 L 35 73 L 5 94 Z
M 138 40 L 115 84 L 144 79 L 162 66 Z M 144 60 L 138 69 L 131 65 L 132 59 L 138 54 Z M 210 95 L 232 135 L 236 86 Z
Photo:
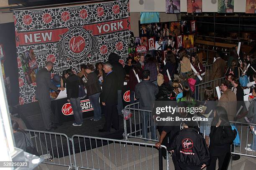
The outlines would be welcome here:
M 107 74 L 102 83 L 102 92 L 100 99 L 102 101 L 103 110 L 105 113 L 105 125 L 99 132 L 110 132 L 110 127 L 115 130 L 119 130 L 119 119 L 118 119 L 118 77 L 112 70 L 110 63 L 105 63 L 103 70 Z

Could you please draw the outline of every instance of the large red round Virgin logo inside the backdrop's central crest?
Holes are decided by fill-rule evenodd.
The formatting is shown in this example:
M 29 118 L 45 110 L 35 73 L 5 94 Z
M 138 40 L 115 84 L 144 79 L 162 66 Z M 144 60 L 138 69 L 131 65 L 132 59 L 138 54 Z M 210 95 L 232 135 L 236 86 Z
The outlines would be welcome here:
M 80 53 L 84 50 L 85 40 L 82 36 L 72 37 L 69 40 L 69 48 L 74 53 Z

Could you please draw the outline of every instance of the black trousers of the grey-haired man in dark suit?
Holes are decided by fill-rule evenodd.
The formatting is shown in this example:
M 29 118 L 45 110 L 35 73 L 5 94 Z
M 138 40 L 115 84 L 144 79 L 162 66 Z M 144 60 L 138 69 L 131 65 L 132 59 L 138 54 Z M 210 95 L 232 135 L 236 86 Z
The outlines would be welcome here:
M 114 128 L 119 129 L 119 119 L 117 105 L 105 105 L 103 106 L 105 114 L 104 130 L 110 130 L 111 124 Z

